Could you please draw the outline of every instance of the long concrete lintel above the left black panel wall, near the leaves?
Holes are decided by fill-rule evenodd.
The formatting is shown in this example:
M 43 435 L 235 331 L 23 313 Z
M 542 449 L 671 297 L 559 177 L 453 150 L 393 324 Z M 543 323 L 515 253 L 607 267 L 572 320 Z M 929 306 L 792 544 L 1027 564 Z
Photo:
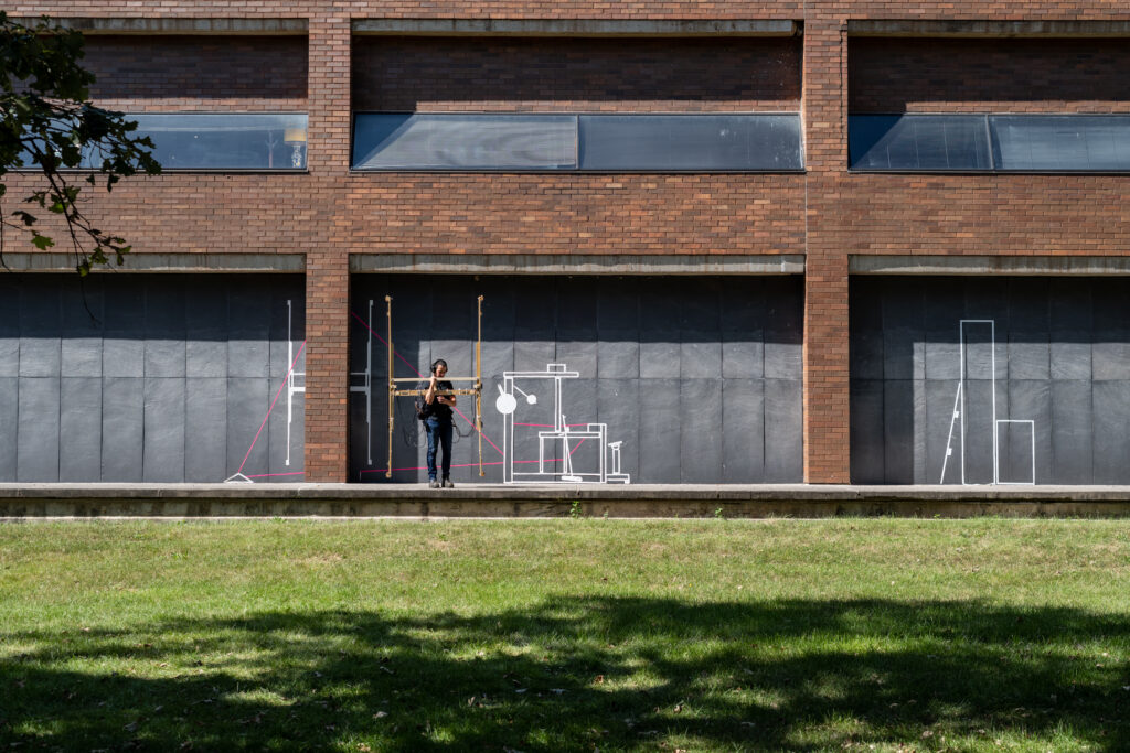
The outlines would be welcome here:
M 12 272 L 75 272 L 71 254 L 7 253 L 3 262 Z M 121 272 L 303 272 L 302 254 L 145 254 L 125 255 L 125 263 L 111 262 L 92 274 Z M 0 271 L 0 274 L 3 272 Z

